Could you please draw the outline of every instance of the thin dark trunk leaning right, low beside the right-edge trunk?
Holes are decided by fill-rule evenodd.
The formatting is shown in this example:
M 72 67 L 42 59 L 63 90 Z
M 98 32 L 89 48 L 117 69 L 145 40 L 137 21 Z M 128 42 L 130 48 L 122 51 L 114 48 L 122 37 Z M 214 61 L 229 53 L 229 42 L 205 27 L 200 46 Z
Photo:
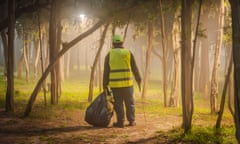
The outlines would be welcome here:
M 223 86 L 220 110 L 219 110 L 218 118 L 217 118 L 217 122 L 216 122 L 216 128 L 217 129 L 220 128 L 220 125 L 221 125 L 222 115 L 223 115 L 223 111 L 224 111 L 224 104 L 225 104 L 225 99 L 226 99 L 226 94 L 227 94 L 227 86 L 229 84 L 231 73 L 232 73 L 232 55 L 231 55 L 230 60 L 229 60 L 228 72 L 227 72 L 225 82 L 224 82 L 224 86 Z

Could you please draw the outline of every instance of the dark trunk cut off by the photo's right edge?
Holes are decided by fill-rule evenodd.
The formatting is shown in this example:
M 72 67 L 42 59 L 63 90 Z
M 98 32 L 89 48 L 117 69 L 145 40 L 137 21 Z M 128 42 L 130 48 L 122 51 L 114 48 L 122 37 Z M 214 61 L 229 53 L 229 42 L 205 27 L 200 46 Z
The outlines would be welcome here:
M 234 62 L 234 108 L 236 138 L 240 143 L 240 1 L 229 0 L 232 10 L 232 40 L 233 40 L 233 62 Z

